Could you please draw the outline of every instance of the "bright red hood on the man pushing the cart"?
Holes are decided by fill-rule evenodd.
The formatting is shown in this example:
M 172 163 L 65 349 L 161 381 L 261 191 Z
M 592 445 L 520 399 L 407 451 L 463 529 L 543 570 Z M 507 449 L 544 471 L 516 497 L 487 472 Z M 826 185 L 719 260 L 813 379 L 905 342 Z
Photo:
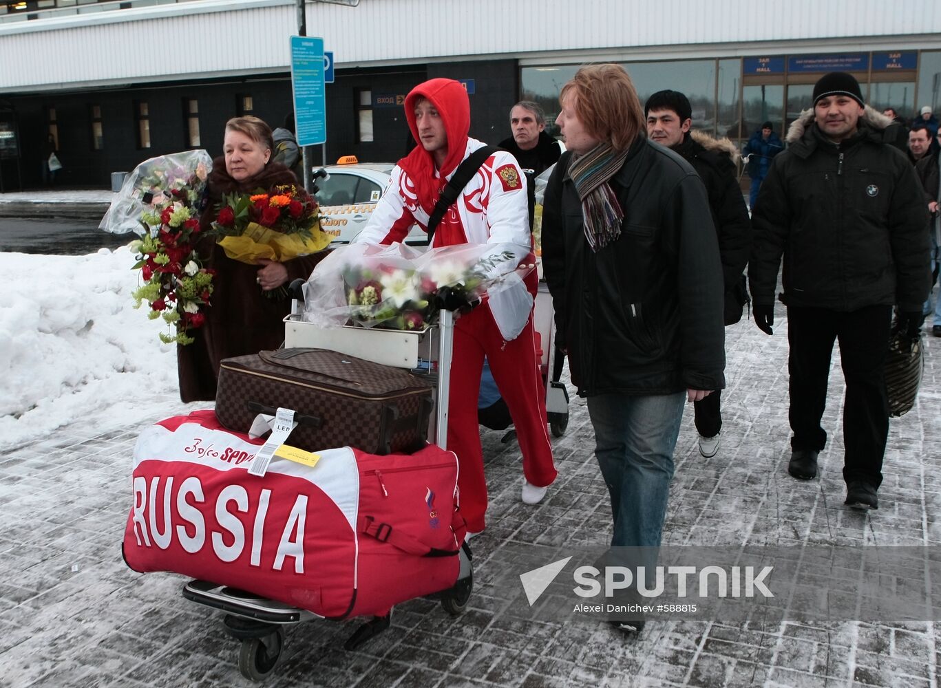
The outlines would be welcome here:
M 448 155 L 439 170 L 442 178 L 454 172 L 455 167 L 464 159 L 470 131 L 470 101 L 467 89 L 454 79 L 431 79 L 412 88 L 406 96 L 408 129 L 418 145 L 399 161 L 399 166 L 415 184 L 423 209 L 430 213 L 438 200 L 440 184 L 435 179 L 434 158 L 423 149 L 415 126 L 415 102 L 420 98 L 435 106 L 444 121 L 444 131 L 448 135 Z

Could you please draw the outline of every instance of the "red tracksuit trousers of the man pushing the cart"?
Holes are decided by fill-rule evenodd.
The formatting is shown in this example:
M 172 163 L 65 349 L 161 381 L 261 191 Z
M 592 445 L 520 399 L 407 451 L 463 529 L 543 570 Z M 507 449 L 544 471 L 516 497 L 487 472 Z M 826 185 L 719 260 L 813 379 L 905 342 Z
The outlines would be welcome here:
M 448 449 L 457 455 L 460 508 L 468 530 L 484 529 L 486 477 L 477 424 L 477 398 L 484 357 L 517 430 L 523 475 L 536 487 L 556 477 L 546 430 L 546 390 L 535 355 L 533 315 L 513 341 L 503 341 L 489 305 L 461 315 L 455 323 L 451 392 L 448 400 Z

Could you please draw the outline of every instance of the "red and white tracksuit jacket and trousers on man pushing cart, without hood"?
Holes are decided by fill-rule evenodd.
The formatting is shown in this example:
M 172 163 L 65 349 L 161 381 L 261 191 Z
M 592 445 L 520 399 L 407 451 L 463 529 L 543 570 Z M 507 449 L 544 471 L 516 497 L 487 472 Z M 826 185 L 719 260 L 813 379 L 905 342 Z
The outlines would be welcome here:
M 484 144 L 469 138 L 466 159 Z M 447 183 L 440 180 L 440 187 Z M 391 243 L 405 239 L 409 227 L 425 227 L 428 213 L 418 203 L 415 187 L 398 165 L 389 187 L 356 242 Z M 516 260 L 498 266 L 512 273 L 519 262 L 533 260 L 529 230 L 526 178 L 510 153 L 498 151 L 487 158 L 448 209 L 435 231 L 433 245 L 490 243 L 511 250 Z M 535 271 L 518 285 L 493 294 L 487 303 L 462 315 L 455 326 L 454 363 L 451 367 L 448 448 L 460 466 L 458 486 L 461 511 L 473 532 L 483 530 L 486 512 L 484 456 L 477 423 L 477 398 L 484 358 L 513 417 L 523 474 L 542 487 L 556 477 L 546 427 L 545 388 L 539 374 L 533 329 Z M 528 296 L 527 296 L 528 294 Z

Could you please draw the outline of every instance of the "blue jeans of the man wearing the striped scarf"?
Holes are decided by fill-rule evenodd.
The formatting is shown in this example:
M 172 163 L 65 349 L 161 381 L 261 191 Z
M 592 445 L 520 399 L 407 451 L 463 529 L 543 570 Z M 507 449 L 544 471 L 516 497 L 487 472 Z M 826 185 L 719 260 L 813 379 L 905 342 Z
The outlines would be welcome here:
M 588 398 L 595 456 L 611 494 L 612 547 L 659 547 L 686 392 Z

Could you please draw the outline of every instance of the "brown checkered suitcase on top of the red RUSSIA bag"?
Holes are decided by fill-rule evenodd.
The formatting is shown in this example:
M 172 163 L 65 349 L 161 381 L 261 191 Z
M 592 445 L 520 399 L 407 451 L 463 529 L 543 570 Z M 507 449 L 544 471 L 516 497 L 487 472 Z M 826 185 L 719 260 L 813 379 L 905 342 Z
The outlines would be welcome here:
M 258 414 L 288 408 L 298 422 L 292 446 L 389 454 L 423 446 L 432 392 L 407 369 L 325 349 L 280 349 L 223 360 L 215 414 L 226 428 L 247 432 Z

